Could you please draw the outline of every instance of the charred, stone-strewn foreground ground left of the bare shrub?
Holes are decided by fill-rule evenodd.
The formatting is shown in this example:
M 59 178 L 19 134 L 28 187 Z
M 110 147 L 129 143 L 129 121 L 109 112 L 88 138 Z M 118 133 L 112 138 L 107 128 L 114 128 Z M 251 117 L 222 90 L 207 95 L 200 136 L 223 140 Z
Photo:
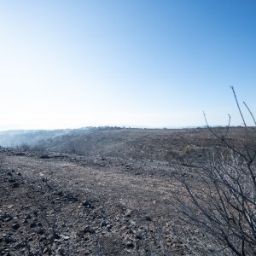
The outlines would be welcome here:
M 200 134 L 176 131 L 170 150 L 200 159 L 206 148 Z M 162 141 L 150 137 L 145 147 L 152 150 L 152 142 L 161 148 Z M 200 254 L 198 237 L 205 234 L 181 222 L 173 200 L 182 194 L 176 177 L 186 167 L 172 154 L 168 161 L 155 152 L 145 159 L 10 149 L 3 154 L 0 255 Z

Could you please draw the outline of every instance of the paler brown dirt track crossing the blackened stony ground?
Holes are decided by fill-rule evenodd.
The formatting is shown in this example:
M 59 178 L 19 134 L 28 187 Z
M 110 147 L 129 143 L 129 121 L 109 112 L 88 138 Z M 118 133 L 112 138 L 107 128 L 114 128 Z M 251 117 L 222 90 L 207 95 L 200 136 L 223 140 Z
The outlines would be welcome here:
M 176 183 L 166 178 L 143 177 L 119 172 L 109 167 L 78 166 L 59 160 L 42 160 L 26 156 L 9 156 L 7 166 L 26 176 L 47 178 L 49 182 L 94 195 L 108 205 L 125 205 L 152 215 L 172 216 L 172 193 Z

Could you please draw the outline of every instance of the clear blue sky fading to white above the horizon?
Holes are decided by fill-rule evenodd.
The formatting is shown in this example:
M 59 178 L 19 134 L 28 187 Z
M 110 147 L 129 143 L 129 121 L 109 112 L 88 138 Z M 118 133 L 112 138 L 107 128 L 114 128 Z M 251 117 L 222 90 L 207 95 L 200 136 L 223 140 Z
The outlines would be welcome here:
M 256 1 L 0 0 L 0 130 L 241 125 Z

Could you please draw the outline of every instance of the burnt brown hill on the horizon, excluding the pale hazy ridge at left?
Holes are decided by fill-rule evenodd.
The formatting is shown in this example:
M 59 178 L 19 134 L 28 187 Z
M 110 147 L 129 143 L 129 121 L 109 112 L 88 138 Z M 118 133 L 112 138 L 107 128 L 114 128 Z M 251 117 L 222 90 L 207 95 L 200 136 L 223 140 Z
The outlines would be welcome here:
M 212 128 L 224 134 L 224 127 Z M 230 128 L 230 138 L 242 139 L 242 128 Z M 256 139 L 255 139 L 256 140 Z M 219 140 L 205 128 L 190 129 L 137 129 L 97 128 L 86 133 L 66 135 L 44 140 L 38 146 L 48 151 L 72 154 L 119 156 L 133 159 L 170 160 L 177 154 L 202 157 L 212 146 L 221 146 Z

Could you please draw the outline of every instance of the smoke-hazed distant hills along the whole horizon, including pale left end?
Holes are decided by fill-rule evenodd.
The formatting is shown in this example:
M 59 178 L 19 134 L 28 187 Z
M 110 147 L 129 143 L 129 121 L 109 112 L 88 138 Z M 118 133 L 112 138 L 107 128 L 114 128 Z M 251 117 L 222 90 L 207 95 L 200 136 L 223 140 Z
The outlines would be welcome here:
M 224 127 L 212 128 L 220 136 Z M 244 129 L 230 127 L 229 138 L 241 143 Z M 256 133 L 253 132 L 253 141 Z M 102 155 L 132 159 L 172 160 L 181 156 L 207 157 L 207 150 L 223 146 L 207 128 L 138 129 L 120 127 L 85 127 L 55 131 L 0 132 L 0 145 L 81 155 Z

